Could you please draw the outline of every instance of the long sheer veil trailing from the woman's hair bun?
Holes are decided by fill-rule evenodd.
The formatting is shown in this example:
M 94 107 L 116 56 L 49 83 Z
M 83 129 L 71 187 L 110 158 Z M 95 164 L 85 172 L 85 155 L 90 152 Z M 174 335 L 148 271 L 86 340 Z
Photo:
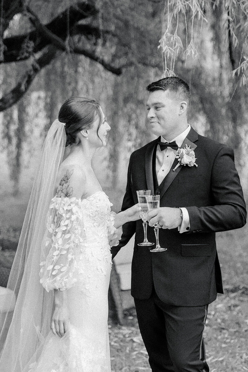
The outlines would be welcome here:
M 55 120 L 43 146 L 7 285 L 17 296 L 15 309 L 0 314 L 1 372 L 28 371 L 49 333 L 54 295 L 39 282 L 39 264 L 46 214 L 54 197 L 65 142 L 64 124 Z

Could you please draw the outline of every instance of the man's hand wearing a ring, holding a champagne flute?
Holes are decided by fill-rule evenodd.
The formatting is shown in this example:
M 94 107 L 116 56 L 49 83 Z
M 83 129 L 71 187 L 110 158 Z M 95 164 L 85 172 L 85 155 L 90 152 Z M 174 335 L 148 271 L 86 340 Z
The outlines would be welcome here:
M 175 229 L 182 223 L 181 209 L 161 207 L 154 209 L 147 215 L 149 226 L 158 222 L 158 228 Z

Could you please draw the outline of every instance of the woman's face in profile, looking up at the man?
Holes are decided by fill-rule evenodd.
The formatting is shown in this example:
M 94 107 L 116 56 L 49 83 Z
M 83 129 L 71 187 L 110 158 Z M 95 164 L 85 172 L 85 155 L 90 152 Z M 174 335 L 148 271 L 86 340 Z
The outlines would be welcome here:
M 93 121 L 93 124 L 91 128 L 88 130 L 88 140 L 91 142 L 91 144 L 94 147 L 102 147 L 106 146 L 106 136 L 107 132 L 110 131 L 110 126 L 106 122 L 105 115 L 103 113 L 102 108 L 100 108 L 101 114 L 102 114 L 102 123 L 99 126 L 99 116 L 96 115 L 96 118 Z M 97 128 L 99 126 L 98 132 Z

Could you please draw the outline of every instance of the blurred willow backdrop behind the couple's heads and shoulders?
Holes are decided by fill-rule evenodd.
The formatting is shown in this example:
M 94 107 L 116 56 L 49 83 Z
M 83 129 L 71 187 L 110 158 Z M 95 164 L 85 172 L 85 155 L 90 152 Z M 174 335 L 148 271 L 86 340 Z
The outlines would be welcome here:
M 145 87 L 173 74 L 190 85 L 194 129 L 234 148 L 247 194 L 247 7 L 243 0 L 2 1 L 2 231 L 21 227 L 46 132 L 70 96 L 97 99 L 112 127 L 94 169 L 119 210 L 130 154 L 154 138 Z

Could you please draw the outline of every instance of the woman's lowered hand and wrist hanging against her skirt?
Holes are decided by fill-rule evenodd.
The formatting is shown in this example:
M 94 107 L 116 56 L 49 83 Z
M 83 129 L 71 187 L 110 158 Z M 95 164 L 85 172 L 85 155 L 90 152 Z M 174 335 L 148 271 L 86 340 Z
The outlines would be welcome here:
M 69 315 L 66 291 L 54 290 L 55 308 L 52 314 L 51 330 L 55 336 L 63 337 L 68 331 Z

